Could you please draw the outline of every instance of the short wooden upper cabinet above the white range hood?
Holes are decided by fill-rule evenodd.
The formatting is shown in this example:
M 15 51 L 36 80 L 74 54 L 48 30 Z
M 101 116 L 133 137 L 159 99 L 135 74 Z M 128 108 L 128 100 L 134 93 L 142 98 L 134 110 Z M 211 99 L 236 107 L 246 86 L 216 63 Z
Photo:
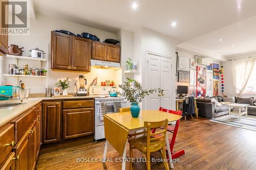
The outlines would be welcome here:
M 120 62 L 120 46 L 93 41 L 92 42 L 92 59 Z

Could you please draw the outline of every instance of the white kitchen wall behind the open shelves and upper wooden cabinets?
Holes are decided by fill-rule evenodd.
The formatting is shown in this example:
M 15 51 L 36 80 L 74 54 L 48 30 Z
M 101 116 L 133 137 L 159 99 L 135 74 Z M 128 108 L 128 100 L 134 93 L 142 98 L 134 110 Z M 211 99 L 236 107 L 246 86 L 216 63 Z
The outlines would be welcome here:
M 81 73 L 76 73 L 76 72 L 63 72 L 63 71 L 51 70 L 51 64 L 50 64 L 51 31 L 53 30 L 68 30 L 75 34 L 88 32 L 100 38 L 101 42 L 104 41 L 106 38 L 113 38 L 113 39 L 117 38 L 117 35 L 115 33 L 110 33 L 106 31 L 90 28 L 90 27 L 79 25 L 77 23 L 66 21 L 66 20 L 53 19 L 47 16 L 37 15 L 36 19 L 30 20 L 30 35 L 9 36 L 9 44 L 17 44 L 19 46 L 24 46 L 25 52 L 23 56 L 29 56 L 30 55 L 29 50 L 35 47 L 38 47 L 40 50 L 43 50 L 46 53 L 47 62 L 43 63 L 42 67 L 48 70 L 47 79 L 41 79 L 41 80 L 40 78 L 20 79 L 24 81 L 26 87 L 31 88 L 31 93 L 44 93 L 45 87 L 47 86 L 54 87 L 56 80 L 62 77 L 70 77 L 72 79 L 71 87 L 69 91 L 74 92 L 75 91 L 74 83 L 78 80 L 78 76 L 81 75 Z M 123 43 L 125 44 L 125 42 Z M 124 51 L 127 52 L 128 50 L 125 50 L 124 48 Z M 5 65 L 7 64 L 7 67 L 9 62 L 13 62 L 13 61 L 11 60 L 6 61 Z M 23 61 L 20 62 L 19 66 L 21 66 L 22 64 L 23 64 Z M 31 66 L 34 66 L 34 65 L 38 65 L 39 63 L 35 63 L 35 62 L 31 63 L 30 61 L 28 64 L 30 64 Z M 7 71 L 7 70 L 6 68 L 4 68 L 4 71 Z M 118 71 L 114 71 L 112 69 L 97 70 L 92 67 L 91 72 L 89 72 L 85 76 L 88 80 L 88 84 L 90 84 L 96 76 L 98 77 L 99 83 L 101 81 L 105 81 L 106 79 L 114 80 L 115 82 L 121 82 L 120 80 L 121 77 L 120 77 L 120 74 L 118 76 Z M 15 84 L 17 82 L 16 78 L 5 78 L 4 81 L 5 83 L 15 83 Z

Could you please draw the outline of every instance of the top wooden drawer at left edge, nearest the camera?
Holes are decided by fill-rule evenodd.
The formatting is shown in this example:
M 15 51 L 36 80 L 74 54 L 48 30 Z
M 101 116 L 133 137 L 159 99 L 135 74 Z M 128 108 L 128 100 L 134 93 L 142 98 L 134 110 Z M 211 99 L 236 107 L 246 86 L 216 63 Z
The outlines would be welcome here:
M 0 164 L 5 160 L 14 146 L 14 125 L 8 124 L 2 128 L 3 131 L 0 130 Z

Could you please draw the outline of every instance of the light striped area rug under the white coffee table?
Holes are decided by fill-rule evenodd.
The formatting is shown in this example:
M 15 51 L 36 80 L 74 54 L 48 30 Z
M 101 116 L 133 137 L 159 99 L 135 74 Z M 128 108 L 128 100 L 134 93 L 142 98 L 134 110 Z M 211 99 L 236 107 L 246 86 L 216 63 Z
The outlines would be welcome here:
M 256 116 L 248 115 L 247 118 L 245 118 L 245 116 L 242 116 L 241 120 L 239 120 L 238 116 L 236 115 L 231 115 L 231 119 L 229 119 L 228 115 L 224 115 L 224 116 L 212 118 L 210 121 L 256 131 Z

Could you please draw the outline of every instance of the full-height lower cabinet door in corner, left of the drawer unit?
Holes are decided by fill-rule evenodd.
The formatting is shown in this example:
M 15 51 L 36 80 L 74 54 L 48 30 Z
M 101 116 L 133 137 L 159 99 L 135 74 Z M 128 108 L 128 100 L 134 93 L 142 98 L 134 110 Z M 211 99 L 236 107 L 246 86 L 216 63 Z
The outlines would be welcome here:
M 42 143 L 60 140 L 60 102 L 42 103 Z

